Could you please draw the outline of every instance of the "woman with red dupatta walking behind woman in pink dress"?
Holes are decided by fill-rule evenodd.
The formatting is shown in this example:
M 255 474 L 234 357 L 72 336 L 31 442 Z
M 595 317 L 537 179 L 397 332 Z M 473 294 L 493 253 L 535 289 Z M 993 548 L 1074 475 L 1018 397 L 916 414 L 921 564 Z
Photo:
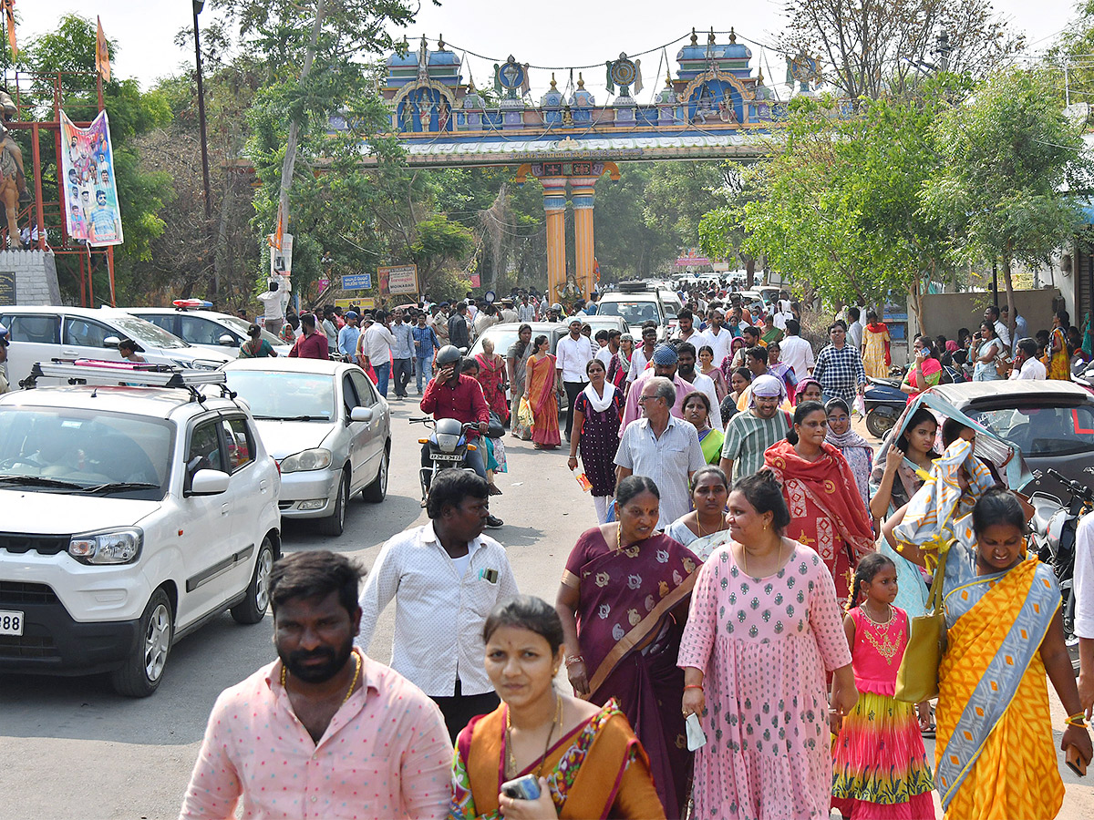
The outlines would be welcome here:
M 846 600 L 859 559 L 874 551 L 874 529 L 851 468 L 825 441 L 827 433 L 824 405 L 802 402 L 794 410 L 793 432 L 768 447 L 764 461 L 782 484 L 790 508 L 787 537 L 821 555 L 837 596 Z

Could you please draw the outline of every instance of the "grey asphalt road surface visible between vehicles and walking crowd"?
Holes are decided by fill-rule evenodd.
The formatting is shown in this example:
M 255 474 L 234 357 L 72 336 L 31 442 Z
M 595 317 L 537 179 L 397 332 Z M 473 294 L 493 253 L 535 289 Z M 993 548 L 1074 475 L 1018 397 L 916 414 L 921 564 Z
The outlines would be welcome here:
M 418 504 L 416 475 L 421 427 L 406 421 L 417 402 L 395 401 L 392 408 L 387 500 L 379 505 L 354 500 L 340 538 L 288 524 L 286 551 L 329 549 L 370 566 L 387 538 L 428 520 Z M 510 472 L 498 477 L 504 494 L 490 502 L 505 526 L 490 535 L 509 549 L 521 590 L 554 601 L 570 548 L 595 524 L 592 500 L 567 469 L 565 448 L 537 452 L 511 436 L 505 445 Z M 370 649 L 383 661 L 391 659 L 393 622 L 394 605 Z M 160 690 L 146 700 L 115 695 L 105 677 L 5 676 L 0 679 L 0 820 L 175 817 L 217 695 L 274 658 L 269 617 L 240 626 L 225 613 L 174 647 Z M 1049 701 L 1058 741 L 1064 713 L 1055 693 Z M 930 745 L 928 752 L 933 758 Z M 1067 784 L 1060 817 L 1094 817 L 1094 784 L 1075 777 L 1062 755 L 1060 769 Z

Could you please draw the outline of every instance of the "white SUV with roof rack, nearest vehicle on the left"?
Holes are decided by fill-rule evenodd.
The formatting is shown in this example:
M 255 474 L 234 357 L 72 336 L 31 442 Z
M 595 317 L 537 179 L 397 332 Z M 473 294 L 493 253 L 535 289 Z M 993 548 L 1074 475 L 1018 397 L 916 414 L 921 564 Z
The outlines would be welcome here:
M 265 614 L 277 466 L 243 401 L 196 391 L 222 372 L 33 372 L 86 384 L 0 396 L 0 672 L 150 695 L 179 637 Z

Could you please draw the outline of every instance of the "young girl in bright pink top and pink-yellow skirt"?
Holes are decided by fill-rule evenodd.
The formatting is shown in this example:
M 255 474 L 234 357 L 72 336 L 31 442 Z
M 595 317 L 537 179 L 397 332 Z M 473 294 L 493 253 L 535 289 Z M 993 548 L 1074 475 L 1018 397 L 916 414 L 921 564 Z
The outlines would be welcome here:
M 893 606 L 896 565 L 873 552 L 859 562 L 843 619 L 859 701 L 835 746 L 831 804 L 852 820 L 934 820 L 934 781 L 915 706 L 893 696 L 908 645 L 908 616 Z M 835 721 L 834 721 L 835 724 Z

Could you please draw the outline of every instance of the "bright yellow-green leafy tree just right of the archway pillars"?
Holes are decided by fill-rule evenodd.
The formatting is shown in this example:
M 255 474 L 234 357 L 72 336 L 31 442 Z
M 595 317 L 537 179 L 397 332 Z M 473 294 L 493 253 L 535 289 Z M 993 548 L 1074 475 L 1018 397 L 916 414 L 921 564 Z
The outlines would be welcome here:
M 945 94 L 931 91 L 871 101 L 853 118 L 836 117 L 830 99 L 795 101 L 770 160 L 753 172 L 744 250 L 834 302 L 918 296 L 924 277 L 945 272 L 942 234 L 918 199 L 938 168 L 929 129 Z

